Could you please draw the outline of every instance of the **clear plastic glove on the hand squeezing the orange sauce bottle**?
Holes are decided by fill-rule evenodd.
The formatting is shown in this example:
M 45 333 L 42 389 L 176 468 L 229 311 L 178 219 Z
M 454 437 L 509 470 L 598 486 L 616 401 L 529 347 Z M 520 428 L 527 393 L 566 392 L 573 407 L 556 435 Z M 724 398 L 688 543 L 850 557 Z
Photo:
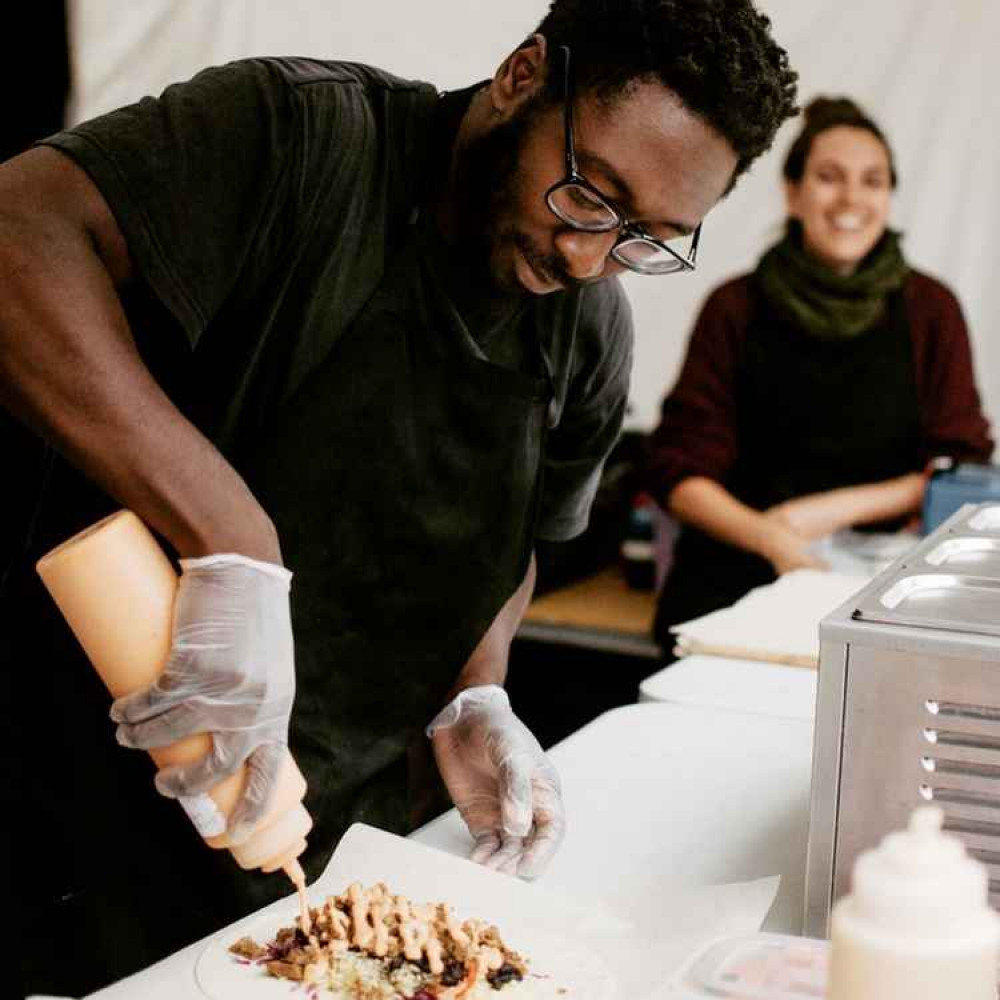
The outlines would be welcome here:
M 181 569 L 166 666 L 148 688 L 115 701 L 111 718 L 118 742 L 141 750 L 211 733 L 211 753 L 156 776 L 157 789 L 181 799 L 196 825 L 190 800 L 246 762 L 243 796 L 227 827 L 238 844 L 267 812 L 288 745 L 292 574 L 239 555 L 182 559 Z

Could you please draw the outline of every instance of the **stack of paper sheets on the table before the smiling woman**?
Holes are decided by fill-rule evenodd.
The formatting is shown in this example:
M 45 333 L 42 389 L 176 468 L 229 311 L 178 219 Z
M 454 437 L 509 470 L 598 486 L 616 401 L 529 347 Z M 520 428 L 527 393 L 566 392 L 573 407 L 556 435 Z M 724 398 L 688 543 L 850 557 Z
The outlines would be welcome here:
M 867 582 L 867 576 L 855 573 L 793 570 L 730 607 L 682 622 L 671 632 L 684 654 L 815 666 L 820 619 Z

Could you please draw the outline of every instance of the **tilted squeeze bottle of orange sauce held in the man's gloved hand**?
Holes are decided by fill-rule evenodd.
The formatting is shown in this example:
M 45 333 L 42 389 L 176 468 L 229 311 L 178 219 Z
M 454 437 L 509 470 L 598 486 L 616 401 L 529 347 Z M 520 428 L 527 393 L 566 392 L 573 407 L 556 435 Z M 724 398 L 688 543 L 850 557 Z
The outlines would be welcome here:
M 43 556 L 36 568 L 115 698 L 155 680 L 170 649 L 177 574 L 135 514 L 122 510 L 98 521 Z M 197 760 L 211 749 L 211 735 L 198 733 L 150 755 L 163 767 Z M 312 828 L 302 805 L 305 779 L 286 751 L 269 812 L 248 840 L 233 846 L 225 818 L 239 799 L 244 773 L 241 768 L 207 796 L 191 796 L 181 805 L 207 844 L 229 847 L 242 868 L 283 868 L 304 901 L 305 876 L 297 859 Z

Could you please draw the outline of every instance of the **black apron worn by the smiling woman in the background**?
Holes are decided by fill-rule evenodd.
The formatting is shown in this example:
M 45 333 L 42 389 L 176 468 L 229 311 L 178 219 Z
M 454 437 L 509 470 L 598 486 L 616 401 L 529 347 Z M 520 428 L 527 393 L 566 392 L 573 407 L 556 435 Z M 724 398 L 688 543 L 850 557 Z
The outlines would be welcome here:
M 739 457 L 724 484 L 733 496 L 767 510 L 918 469 L 920 410 L 903 294 L 888 297 L 871 330 L 839 341 L 782 323 L 756 287 L 754 295 L 736 372 Z M 657 640 L 669 653 L 671 625 L 774 580 L 761 556 L 685 527 L 658 600 Z

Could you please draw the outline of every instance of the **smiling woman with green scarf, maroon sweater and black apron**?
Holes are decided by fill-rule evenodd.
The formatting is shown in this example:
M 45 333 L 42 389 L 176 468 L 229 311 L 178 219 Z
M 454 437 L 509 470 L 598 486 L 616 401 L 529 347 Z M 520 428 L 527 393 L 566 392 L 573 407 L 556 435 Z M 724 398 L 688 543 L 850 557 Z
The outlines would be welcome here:
M 657 638 L 843 528 L 912 523 L 937 456 L 992 450 L 954 295 L 887 226 L 896 167 L 852 101 L 818 98 L 784 168 L 785 237 L 709 297 L 651 438 L 649 486 L 685 524 Z

